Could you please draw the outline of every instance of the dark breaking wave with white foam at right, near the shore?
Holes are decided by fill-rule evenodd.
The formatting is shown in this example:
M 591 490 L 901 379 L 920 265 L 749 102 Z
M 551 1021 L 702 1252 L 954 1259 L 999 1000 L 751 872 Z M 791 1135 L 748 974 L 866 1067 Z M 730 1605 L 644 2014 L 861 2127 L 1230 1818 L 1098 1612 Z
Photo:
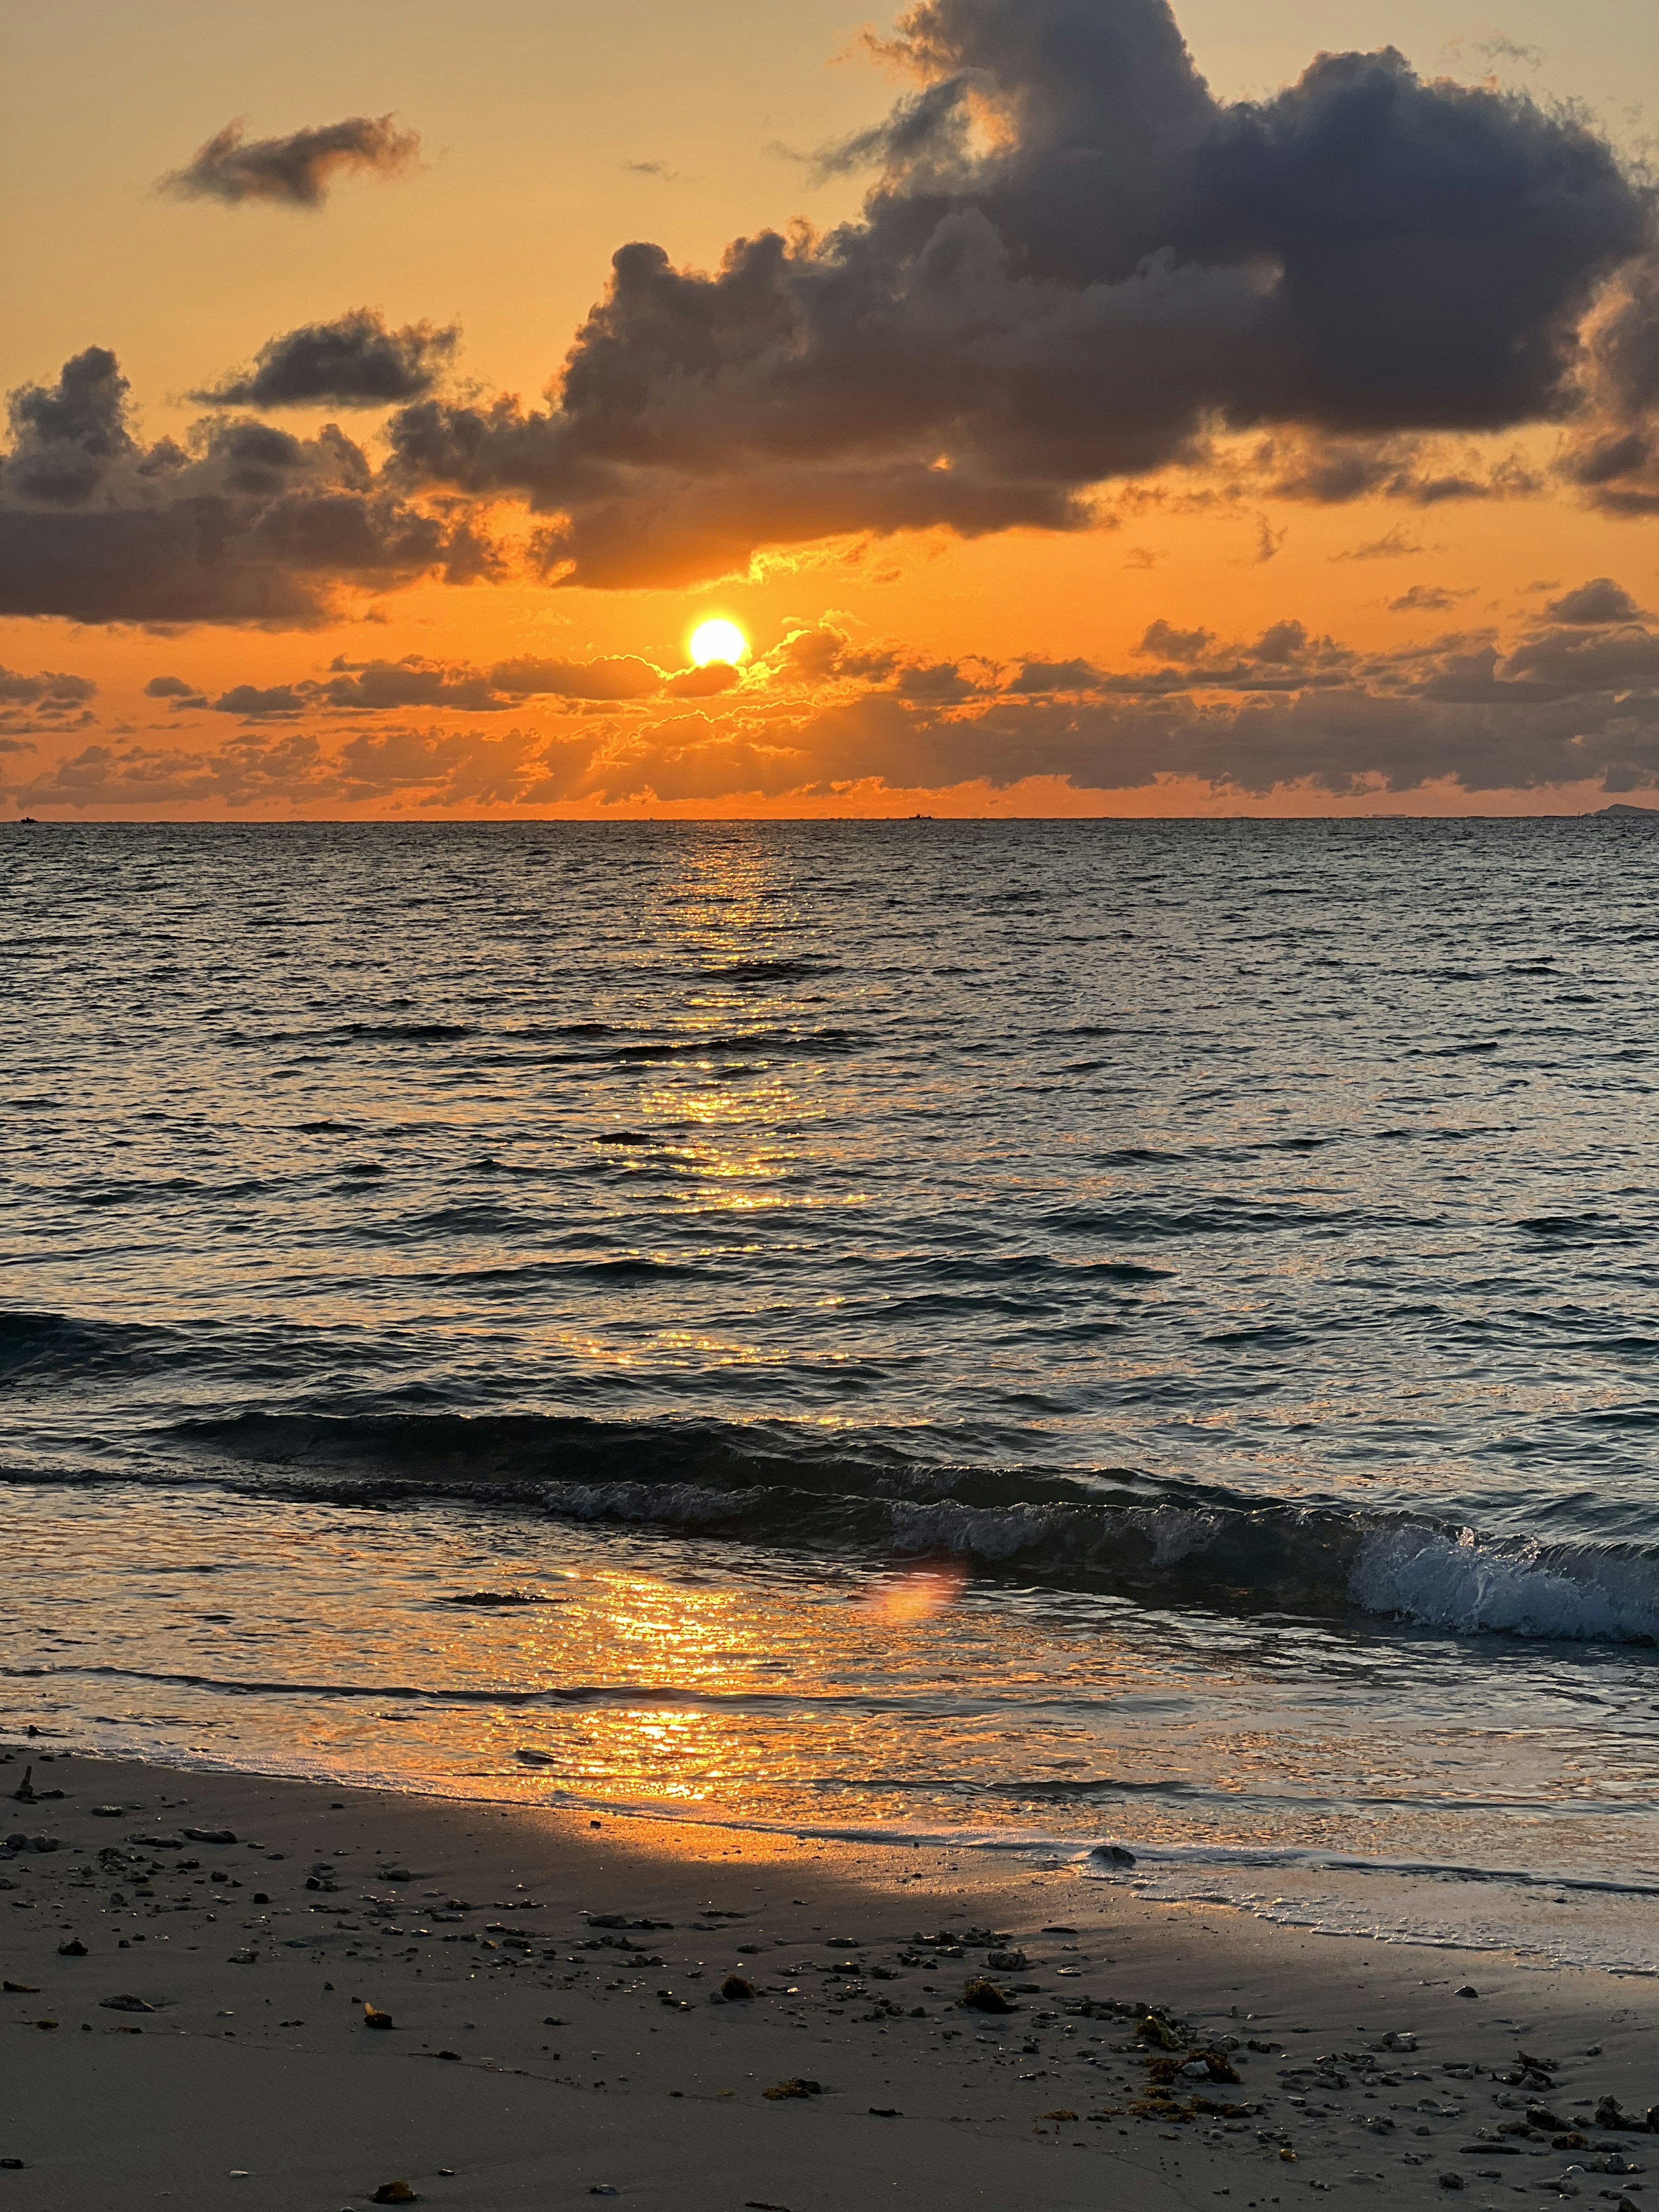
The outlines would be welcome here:
M 1637 1542 L 1493 1535 L 1133 1469 L 960 1464 L 945 1458 L 951 1442 L 960 1449 L 929 1431 L 825 1438 L 781 1420 L 250 1411 L 170 1425 L 146 1473 L 376 1504 L 460 1498 L 891 1564 L 960 1559 L 1144 1604 L 1659 1641 L 1659 1548 Z

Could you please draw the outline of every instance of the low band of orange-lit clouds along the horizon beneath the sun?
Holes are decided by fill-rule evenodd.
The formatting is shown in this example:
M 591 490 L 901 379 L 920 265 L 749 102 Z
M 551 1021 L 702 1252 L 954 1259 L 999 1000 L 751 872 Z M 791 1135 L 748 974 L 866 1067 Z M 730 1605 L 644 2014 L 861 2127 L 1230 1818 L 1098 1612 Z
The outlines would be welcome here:
M 1221 799 L 1440 783 L 1467 794 L 1659 787 L 1659 624 L 1606 577 L 1509 639 L 1451 633 L 1396 653 L 1358 653 L 1285 617 L 1248 639 L 1155 622 L 1117 668 L 929 664 L 823 619 L 719 681 L 723 695 L 699 701 L 684 677 L 630 657 L 336 664 L 321 679 L 221 692 L 215 708 L 241 728 L 215 750 L 97 739 L 9 796 L 29 810 L 538 812 L 832 805 L 849 790 L 1009 790 L 1026 779 L 1077 792 L 1199 781 Z M 553 706 L 551 726 L 491 721 L 538 701 Z M 449 726 L 409 723 L 411 710 Z

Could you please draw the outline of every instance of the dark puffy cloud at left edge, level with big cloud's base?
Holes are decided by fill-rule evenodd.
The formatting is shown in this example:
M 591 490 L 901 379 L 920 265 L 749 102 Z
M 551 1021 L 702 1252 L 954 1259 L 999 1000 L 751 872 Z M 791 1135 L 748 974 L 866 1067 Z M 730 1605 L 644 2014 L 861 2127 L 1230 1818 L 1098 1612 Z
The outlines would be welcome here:
M 186 445 L 142 445 L 102 345 L 64 363 L 55 385 L 11 394 L 0 615 L 305 626 L 352 588 L 495 568 L 467 515 L 411 504 L 334 425 L 294 438 L 219 418 Z

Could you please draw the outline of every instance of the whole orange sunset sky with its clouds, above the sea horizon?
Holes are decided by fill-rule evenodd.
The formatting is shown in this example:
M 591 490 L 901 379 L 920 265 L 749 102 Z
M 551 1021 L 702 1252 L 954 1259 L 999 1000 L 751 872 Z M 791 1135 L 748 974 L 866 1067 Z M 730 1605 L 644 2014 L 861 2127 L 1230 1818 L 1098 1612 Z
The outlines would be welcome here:
M 13 11 L 0 810 L 1659 803 L 1644 15 Z

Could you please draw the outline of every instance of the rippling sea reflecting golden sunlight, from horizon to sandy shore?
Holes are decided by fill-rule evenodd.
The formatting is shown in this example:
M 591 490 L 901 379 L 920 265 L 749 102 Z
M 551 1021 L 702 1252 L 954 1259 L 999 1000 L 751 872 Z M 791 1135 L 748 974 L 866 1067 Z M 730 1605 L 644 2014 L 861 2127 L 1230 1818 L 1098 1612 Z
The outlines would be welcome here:
M 1659 827 L 0 872 L 0 1732 L 1650 1969 Z

